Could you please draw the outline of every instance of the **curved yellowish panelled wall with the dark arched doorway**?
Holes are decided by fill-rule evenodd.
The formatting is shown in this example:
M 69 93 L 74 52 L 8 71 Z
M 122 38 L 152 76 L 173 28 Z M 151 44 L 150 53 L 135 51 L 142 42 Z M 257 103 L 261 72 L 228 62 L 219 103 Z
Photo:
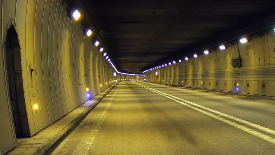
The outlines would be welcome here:
M 22 71 L 17 74 L 22 75 L 23 89 L 17 100 L 25 101 L 18 105 L 25 136 L 41 131 L 116 80 L 133 77 L 113 76 L 114 69 L 93 46 L 91 38 L 83 34 L 81 23 L 68 17 L 67 4 L 61 0 L 3 0 L 0 7 L 0 154 L 17 145 L 5 49 L 11 25 L 20 44 Z

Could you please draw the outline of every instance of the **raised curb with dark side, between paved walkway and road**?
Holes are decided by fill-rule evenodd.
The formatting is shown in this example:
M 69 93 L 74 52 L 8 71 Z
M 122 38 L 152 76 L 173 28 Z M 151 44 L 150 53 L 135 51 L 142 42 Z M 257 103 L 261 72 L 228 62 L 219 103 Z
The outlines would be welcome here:
M 82 122 L 85 117 L 100 103 L 100 101 L 118 84 L 114 84 L 105 94 L 99 97 L 91 106 L 85 109 L 76 119 L 68 124 L 64 129 L 57 133 L 51 140 L 49 140 L 42 149 L 37 150 L 34 155 L 51 154 L 54 149 Z M 108 88 L 107 88 L 108 89 Z

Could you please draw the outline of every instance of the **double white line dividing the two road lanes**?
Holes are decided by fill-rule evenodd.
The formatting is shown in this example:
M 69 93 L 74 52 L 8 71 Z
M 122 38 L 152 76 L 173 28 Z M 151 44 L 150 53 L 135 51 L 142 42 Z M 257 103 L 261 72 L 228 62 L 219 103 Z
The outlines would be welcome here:
M 236 118 L 236 117 L 233 117 L 233 116 L 224 114 L 224 113 L 221 113 L 221 112 L 219 112 L 219 111 L 216 111 L 216 110 L 213 110 L 213 109 L 210 109 L 210 108 L 206 108 L 206 107 L 201 106 L 201 105 L 198 105 L 198 104 L 196 104 L 196 103 L 193 103 L 193 102 L 190 102 L 190 101 L 183 100 L 183 99 L 181 99 L 181 98 L 178 98 L 178 97 L 175 97 L 175 96 L 173 96 L 173 95 L 169 95 L 169 94 L 167 94 L 167 93 L 164 93 L 164 92 L 161 92 L 161 91 L 152 89 L 152 88 L 150 88 L 150 87 L 146 87 L 146 86 L 144 86 L 144 85 L 142 85 L 142 84 L 138 84 L 138 83 L 133 82 L 133 81 L 132 81 L 132 83 L 137 84 L 137 85 L 139 85 L 139 86 L 141 86 L 141 87 L 143 87 L 143 88 L 145 88 L 145 89 L 151 90 L 152 92 L 155 92 L 155 93 L 157 93 L 157 94 L 160 94 L 160 95 L 162 95 L 162 96 L 164 96 L 164 97 L 167 97 L 167 98 L 169 98 L 169 99 L 171 99 L 171 100 L 173 100 L 173 101 L 176 101 L 176 102 L 178 102 L 178 103 L 180 103 L 180 104 L 182 104 L 182 105 L 185 105 L 185 106 L 187 106 L 187 107 L 189 107 L 189 108 L 192 108 L 192 109 L 194 109 L 194 110 L 196 110 L 196 111 L 199 111 L 199 112 L 201 112 L 201 113 L 204 113 L 204 114 L 206 114 L 206 115 L 208 115 L 208 116 L 210 116 L 210 117 L 213 117 L 213 118 L 215 118 L 215 119 L 218 119 L 219 121 L 225 122 L 226 124 L 232 125 L 233 127 L 236 127 L 236 128 L 238 128 L 238 129 L 241 129 L 241 130 L 243 130 L 243 131 L 245 131 L 245 132 L 248 132 L 248 133 L 250 133 L 250 134 L 252 134 L 252 135 L 254 135 L 254 136 L 257 136 L 257 137 L 259 137 L 259 138 L 262 138 L 263 140 L 266 140 L 266 141 L 269 141 L 270 143 L 275 144 L 275 138 L 270 137 L 270 136 L 268 136 L 268 135 L 265 135 L 265 134 L 263 134 L 263 133 L 261 133 L 261 132 L 258 132 L 258 131 L 256 131 L 256 130 L 253 130 L 253 129 L 251 129 L 251 128 L 248 128 L 248 127 L 246 127 L 246 126 L 249 126 L 249 127 L 252 127 L 252 128 L 255 128 L 255 129 L 258 129 L 258 130 L 261 130 L 261 131 L 263 131 L 263 132 L 266 132 L 266 133 L 269 133 L 269 134 L 272 134 L 272 135 L 275 135 L 275 131 L 274 131 L 274 130 L 271 130 L 271 129 L 262 127 L 262 126 L 260 126 L 260 125 L 257 125 L 257 124 L 254 124 L 254 123 L 251 123 L 251 122 L 248 122 L 248 121 L 245 121 L 245 120 L 242 120 L 242 119 L 239 119 L 239 118 Z M 208 112 L 208 111 L 210 111 L 211 113 Z M 222 116 L 222 117 L 220 117 L 220 116 Z M 231 121 L 231 120 L 233 120 L 233 121 Z M 237 122 L 238 122 L 238 123 L 237 123 Z M 239 124 L 239 123 L 240 123 L 240 124 Z M 241 125 L 241 124 L 245 124 L 246 126 Z

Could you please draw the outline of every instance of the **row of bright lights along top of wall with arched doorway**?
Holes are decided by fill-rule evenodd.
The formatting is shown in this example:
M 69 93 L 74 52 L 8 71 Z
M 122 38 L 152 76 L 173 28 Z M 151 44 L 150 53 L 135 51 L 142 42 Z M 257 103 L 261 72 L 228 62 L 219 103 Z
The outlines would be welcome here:
M 75 20 L 79 20 L 81 14 L 79 13 L 78 10 L 74 10 L 73 13 L 72 13 L 72 16 L 73 16 L 73 18 L 74 18 Z M 91 29 L 88 29 L 88 30 L 86 31 L 86 35 L 87 35 L 88 37 L 91 36 L 91 35 L 92 35 L 92 30 L 91 30 Z M 98 40 L 96 40 L 96 41 L 94 42 L 94 45 L 95 45 L 95 46 L 98 46 L 99 44 L 100 44 L 100 43 L 99 43 Z M 103 50 L 104 50 L 103 47 L 100 47 L 100 48 L 99 48 L 99 51 L 100 51 L 100 52 L 103 52 Z M 107 59 L 107 61 L 110 63 L 110 65 L 111 65 L 111 66 L 116 70 L 116 72 L 119 73 L 119 74 L 133 75 L 133 76 L 145 76 L 144 74 L 132 74 L 132 73 L 122 73 L 122 72 L 119 72 L 119 71 L 117 70 L 116 66 L 112 63 L 111 59 L 109 58 L 109 56 L 107 55 L 106 52 L 103 53 L 103 56 Z

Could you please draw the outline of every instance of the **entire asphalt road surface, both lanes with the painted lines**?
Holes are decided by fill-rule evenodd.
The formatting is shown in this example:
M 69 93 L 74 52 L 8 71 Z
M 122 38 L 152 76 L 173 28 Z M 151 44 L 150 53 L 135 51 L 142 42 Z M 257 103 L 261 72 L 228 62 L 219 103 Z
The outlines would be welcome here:
M 275 103 L 125 81 L 52 154 L 275 154 Z

